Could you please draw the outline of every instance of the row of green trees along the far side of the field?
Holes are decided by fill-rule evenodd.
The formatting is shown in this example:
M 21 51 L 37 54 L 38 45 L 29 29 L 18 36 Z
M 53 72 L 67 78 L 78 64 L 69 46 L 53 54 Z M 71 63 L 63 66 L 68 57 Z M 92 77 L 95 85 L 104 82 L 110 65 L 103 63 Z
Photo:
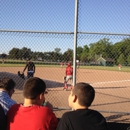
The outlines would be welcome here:
M 50 52 L 33 52 L 31 49 L 23 47 L 12 48 L 9 51 L 8 59 L 27 59 L 41 61 L 72 61 L 73 50 L 68 48 L 64 53 L 60 48 L 55 48 Z M 110 39 L 103 38 L 95 43 L 77 47 L 77 60 L 80 62 L 96 62 L 99 57 L 111 58 L 115 64 L 121 63 L 128 65 L 130 63 L 130 38 L 123 39 L 120 42 L 112 44 Z

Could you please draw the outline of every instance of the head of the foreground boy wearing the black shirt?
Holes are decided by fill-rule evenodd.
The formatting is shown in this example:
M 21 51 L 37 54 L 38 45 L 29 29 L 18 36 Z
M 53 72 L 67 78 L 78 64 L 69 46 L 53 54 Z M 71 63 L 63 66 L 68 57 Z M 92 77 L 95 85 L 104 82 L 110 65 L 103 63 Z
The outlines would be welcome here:
M 69 106 L 73 108 L 75 104 L 78 104 L 78 106 L 88 108 L 93 102 L 94 97 L 95 90 L 90 84 L 77 83 L 69 95 Z

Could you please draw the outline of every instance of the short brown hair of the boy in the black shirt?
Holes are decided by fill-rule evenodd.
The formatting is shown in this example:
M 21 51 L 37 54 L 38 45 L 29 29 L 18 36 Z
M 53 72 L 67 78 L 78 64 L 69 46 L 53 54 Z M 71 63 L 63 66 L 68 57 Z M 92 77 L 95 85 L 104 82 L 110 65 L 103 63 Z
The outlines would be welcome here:
M 94 100 L 95 90 L 90 84 L 80 82 L 74 86 L 72 94 L 77 96 L 80 105 L 89 107 Z

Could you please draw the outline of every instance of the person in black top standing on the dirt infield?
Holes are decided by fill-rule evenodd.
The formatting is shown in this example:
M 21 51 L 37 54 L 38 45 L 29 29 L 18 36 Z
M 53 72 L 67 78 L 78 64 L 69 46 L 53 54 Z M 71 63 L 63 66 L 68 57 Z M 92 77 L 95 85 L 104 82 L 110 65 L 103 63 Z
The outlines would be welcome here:
M 26 69 L 27 69 L 27 78 L 33 77 L 35 73 L 35 64 L 30 59 L 27 60 L 23 73 Z

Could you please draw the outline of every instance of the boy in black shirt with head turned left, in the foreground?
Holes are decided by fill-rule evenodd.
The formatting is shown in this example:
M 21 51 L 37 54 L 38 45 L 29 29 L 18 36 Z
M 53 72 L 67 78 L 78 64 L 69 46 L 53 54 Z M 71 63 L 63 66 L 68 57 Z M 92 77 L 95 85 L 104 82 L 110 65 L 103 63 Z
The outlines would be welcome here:
M 107 130 L 105 118 L 89 109 L 95 97 L 94 88 L 87 83 L 77 83 L 68 98 L 74 111 L 63 114 L 57 130 Z

